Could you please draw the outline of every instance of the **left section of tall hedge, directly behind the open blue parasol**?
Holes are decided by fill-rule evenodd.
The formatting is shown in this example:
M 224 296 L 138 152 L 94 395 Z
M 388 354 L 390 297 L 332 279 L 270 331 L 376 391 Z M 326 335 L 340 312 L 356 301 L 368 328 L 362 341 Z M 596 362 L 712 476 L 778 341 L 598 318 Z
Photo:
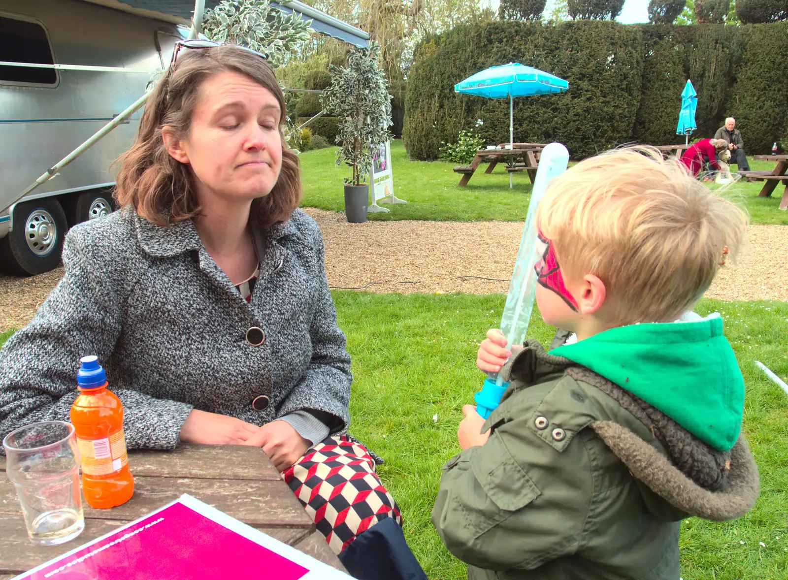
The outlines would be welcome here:
M 441 141 L 484 121 L 488 143 L 509 135 L 508 99 L 457 95 L 454 85 L 510 61 L 569 80 L 569 91 L 515 99 L 515 142 L 566 143 L 576 157 L 630 138 L 641 95 L 640 28 L 587 20 L 557 26 L 493 22 L 462 26 L 422 43 L 405 100 L 403 139 L 411 156 L 437 158 Z M 598 122 L 589 122 L 598 121 Z

